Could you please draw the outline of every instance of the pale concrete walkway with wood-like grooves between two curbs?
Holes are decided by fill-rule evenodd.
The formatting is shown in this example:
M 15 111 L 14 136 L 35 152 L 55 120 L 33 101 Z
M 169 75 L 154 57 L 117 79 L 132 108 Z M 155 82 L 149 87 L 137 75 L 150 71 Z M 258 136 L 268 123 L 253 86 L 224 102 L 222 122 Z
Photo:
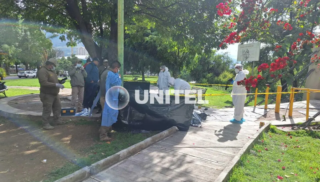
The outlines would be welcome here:
M 84 182 L 123 181 L 215 181 L 259 130 L 254 122 L 266 111 L 246 108 L 243 124 L 225 122 L 232 118 L 233 108 L 208 109 L 214 114 L 202 127 L 178 131 L 138 154 L 93 175 Z

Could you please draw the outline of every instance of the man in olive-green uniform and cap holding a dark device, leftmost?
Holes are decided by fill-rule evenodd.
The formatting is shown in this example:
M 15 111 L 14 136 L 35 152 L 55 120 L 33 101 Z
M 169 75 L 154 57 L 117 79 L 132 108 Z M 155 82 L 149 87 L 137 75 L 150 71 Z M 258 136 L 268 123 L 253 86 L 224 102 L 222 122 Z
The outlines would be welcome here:
M 50 58 L 45 62 L 45 66 L 37 72 L 40 83 L 39 97 L 43 104 L 42 127 L 46 130 L 54 129 L 54 127 L 49 124 L 51 111 L 53 113 L 53 125 L 66 124 L 65 121 L 60 120 L 61 102 L 59 96 L 60 89 L 64 88 L 62 84 L 66 81 L 58 80 L 58 76 L 55 73 L 56 66 L 58 66 L 57 60 Z

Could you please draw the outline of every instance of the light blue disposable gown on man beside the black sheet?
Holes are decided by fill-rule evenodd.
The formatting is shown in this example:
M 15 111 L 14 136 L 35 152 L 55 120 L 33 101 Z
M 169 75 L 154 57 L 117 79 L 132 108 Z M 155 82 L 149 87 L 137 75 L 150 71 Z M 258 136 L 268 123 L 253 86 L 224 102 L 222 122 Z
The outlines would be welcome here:
M 118 75 L 118 73 L 114 73 L 112 71 L 108 72 L 107 80 L 106 80 L 106 93 L 108 90 L 113 86 L 121 86 L 121 78 Z M 118 118 L 118 110 L 112 109 L 108 104 L 113 107 L 118 107 L 118 96 L 119 96 L 119 90 L 112 91 L 108 95 L 106 94 L 106 101 L 104 103 L 104 108 L 102 112 L 102 120 L 101 120 L 101 126 L 109 127 L 113 123 L 116 123 Z

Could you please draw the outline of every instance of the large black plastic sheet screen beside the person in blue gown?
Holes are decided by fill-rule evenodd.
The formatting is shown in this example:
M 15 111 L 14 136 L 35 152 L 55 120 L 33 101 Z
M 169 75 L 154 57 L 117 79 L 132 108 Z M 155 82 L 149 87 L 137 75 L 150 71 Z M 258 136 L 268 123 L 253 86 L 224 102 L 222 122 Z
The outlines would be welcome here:
M 159 104 L 154 99 L 150 104 L 150 93 L 146 104 L 138 104 L 135 101 L 135 92 L 129 92 L 128 105 L 119 110 L 119 127 L 128 127 L 129 130 L 163 131 L 172 126 L 177 126 L 180 131 L 188 131 L 192 119 L 194 104 L 185 104 L 185 97 L 179 97 L 179 103 L 175 103 L 175 96 L 170 96 L 170 104 Z M 144 94 L 139 94 L 143 100 Z M 196 98 L 190 98 L 195 100 Z M 121 123 L 119 123 L 121 122 Z M 125 125 L 125 126 L 124 126 Z

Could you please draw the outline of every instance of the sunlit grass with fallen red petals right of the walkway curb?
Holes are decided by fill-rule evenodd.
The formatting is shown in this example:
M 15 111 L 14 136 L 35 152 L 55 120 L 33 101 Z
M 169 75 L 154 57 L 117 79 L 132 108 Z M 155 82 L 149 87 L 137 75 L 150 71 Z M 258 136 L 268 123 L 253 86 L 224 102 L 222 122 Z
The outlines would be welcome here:
M 241 157 L 228 182 L 319 182 L 320 132 L 300 130 L 287 135 L 271 126 Z

